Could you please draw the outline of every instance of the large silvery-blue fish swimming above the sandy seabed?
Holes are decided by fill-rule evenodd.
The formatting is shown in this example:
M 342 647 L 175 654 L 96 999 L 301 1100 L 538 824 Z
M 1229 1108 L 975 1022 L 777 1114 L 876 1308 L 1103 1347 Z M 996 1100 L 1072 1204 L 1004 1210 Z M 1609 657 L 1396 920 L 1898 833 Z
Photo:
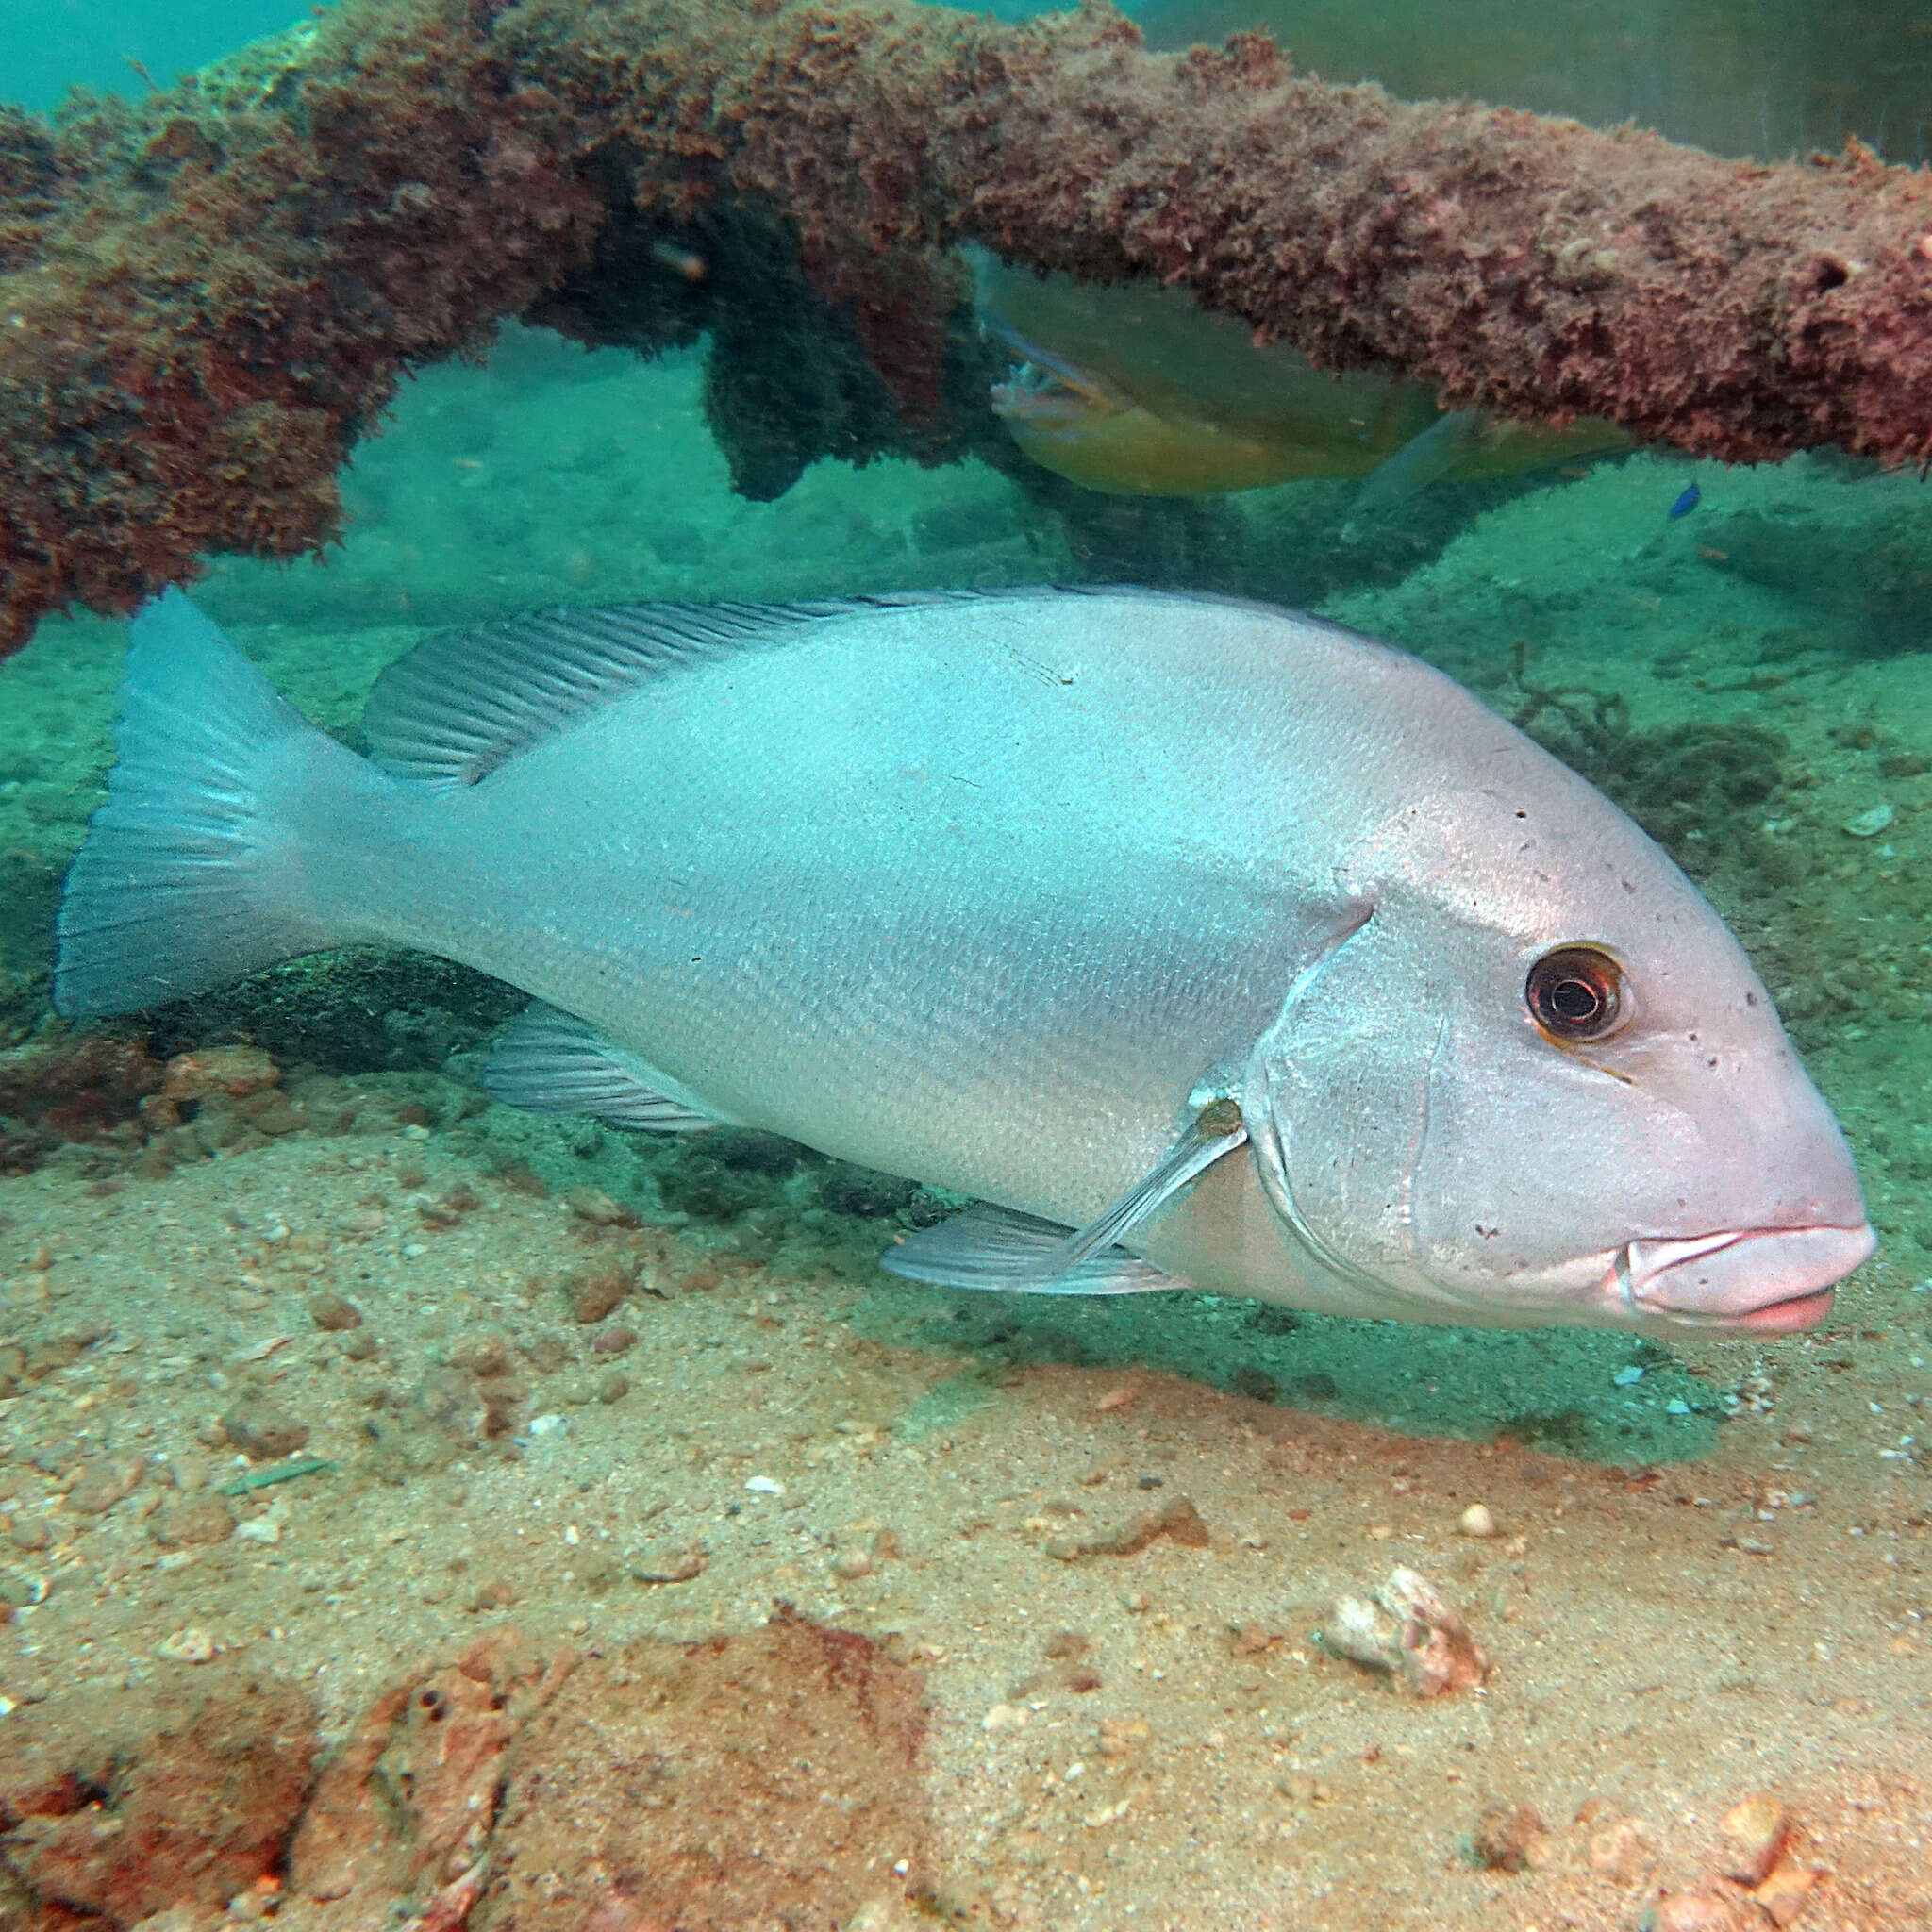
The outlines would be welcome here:
M 1874 1250 L 1764 983 L 1416 657 L 1144 589 L 556 609 L 423 641 L 361 757 L 180 591 L 131 626 L 54 1001 L 350 941 L 531 995 L 489 1094 L 978 1206 L 991 1293 L 1776 1335 Z

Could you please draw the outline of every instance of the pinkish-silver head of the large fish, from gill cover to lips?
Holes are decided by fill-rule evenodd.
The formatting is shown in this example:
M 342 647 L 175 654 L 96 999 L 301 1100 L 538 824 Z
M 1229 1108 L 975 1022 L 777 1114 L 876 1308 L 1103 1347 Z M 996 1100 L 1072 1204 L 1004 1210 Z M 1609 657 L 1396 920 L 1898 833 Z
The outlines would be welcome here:
M 1737 939 L 1577 786 L 1582 837 L 1437 823 L 1358 889 L 1248 1068 L 1283 1238 L 1364 1314 L 1812 1327 L 1874 1250 L 1845 1138 Z

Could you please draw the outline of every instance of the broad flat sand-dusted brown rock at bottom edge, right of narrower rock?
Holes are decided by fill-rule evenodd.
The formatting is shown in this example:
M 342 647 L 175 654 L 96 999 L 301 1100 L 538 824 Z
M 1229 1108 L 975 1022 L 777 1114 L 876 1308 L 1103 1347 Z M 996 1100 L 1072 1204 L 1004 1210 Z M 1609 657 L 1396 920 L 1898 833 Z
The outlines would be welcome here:
M 869 1638 L 790 1611 L 582 1663 L 516 1743 L 471 1924 L 738 1932 L 883 1913 L 891 1889 L 931 1884 L 922 1694 Z

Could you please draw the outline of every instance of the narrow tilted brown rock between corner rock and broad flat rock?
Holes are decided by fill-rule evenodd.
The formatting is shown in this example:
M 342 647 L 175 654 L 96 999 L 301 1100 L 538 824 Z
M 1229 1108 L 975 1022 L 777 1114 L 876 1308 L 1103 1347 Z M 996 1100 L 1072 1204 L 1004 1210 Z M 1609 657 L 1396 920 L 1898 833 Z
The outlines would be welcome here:
M 498 1631 L 390 1685 L 323 1766 L 288 1851 L 290 1897 L 346 1899 L 373 1924 L 396 1897 L 460 1884 L 489 1845 L 504 1752 L 574 1662 Z

